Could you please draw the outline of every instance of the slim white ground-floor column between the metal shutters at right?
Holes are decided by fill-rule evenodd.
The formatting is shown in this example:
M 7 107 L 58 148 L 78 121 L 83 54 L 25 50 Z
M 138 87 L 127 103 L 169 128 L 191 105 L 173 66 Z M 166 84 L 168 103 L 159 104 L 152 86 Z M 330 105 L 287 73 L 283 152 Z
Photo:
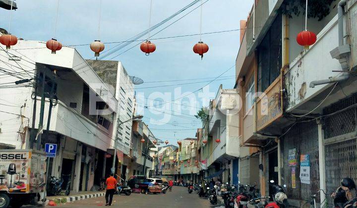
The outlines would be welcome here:
M 317 133 L 319 145 L 319 173 L 320 173 L 320 189 L 326 192 L 326 166 L 325 166 L 325 146 L 323 143 L 324 135 L 321 120 L 317 120 Z M 320 194 L 320 202 L 325 200 L 326 196 Z

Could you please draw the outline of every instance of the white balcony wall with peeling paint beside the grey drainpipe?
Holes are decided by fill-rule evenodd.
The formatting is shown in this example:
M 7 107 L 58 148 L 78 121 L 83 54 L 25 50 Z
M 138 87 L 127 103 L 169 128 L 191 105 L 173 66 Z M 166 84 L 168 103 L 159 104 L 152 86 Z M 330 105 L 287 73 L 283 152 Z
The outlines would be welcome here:
M 341 70 L 341 65 L 330 55 L 330 51 L 338 47 L 337 20 L 338 17 L 335 16 L 317 34 L 316 43 L 291 62 L 290 69 L 285 74 L 287 111 L 296 109 L 329 86 L 325 84 L 310 88 L 311 81 L 328 79 L 340 73 L 332 72 L 332 70 Z

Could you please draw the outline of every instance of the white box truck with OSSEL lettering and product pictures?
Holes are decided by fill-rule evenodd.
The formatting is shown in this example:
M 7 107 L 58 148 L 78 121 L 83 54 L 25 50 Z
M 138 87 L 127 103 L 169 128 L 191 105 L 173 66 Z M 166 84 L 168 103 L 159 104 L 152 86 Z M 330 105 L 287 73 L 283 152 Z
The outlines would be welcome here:
M 46 188 L 46 154 L 0 150 L 0 208 L 37 205 Z

